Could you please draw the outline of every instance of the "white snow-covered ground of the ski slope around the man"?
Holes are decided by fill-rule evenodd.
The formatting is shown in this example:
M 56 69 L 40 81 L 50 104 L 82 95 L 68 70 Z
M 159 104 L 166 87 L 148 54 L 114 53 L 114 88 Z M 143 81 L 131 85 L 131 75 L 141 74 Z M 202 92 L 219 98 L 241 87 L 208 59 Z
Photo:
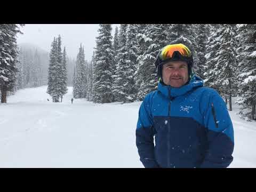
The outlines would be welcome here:
M 135 146 L 141 102 L 71 104 L 69 87 L 63 102 L 53 103 L 46 87 L 19 90 L 0 104 L 0 167 L 143 167 Z M 233 107 L 229 167 L 256 167 L 256 123 Z

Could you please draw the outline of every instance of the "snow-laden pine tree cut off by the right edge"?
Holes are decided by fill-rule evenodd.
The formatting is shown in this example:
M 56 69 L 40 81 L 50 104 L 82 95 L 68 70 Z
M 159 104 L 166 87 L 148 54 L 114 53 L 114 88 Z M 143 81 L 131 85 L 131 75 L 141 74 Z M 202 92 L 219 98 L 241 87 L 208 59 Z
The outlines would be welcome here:
M 256 25 L 237 25 L 239 46 L 239 114 L 242 118 L 256 120 Z

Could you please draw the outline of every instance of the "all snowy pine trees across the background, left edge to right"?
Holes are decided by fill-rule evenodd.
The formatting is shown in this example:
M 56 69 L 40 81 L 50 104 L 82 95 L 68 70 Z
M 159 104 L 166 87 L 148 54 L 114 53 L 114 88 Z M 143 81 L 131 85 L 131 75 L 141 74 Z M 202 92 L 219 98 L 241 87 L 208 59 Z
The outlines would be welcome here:
M 110 24 L 99 25 L 91 61 L 84 59 L 84 49 L 79 47 L 73 78 L 69 78 L 75 98 L 96 103 L 143 100 L 157 89 L 154 61 L 158 51 L 167 44 L 183 43 L 193 50 L 194 73 L 222 95 L 229 110 L 232 98 L 237 97 L 241 117 L 256 118 L 255 24 L 121 24 L 114 37 L 111 30 Z M 18 59 L 17 33 L 21 33 L 18 25 L 0 25 L 1 102 L 18 84 L 22 59 Z M 60 36 L 51 47 L 47 92 L 58 101 L 67 92 L 67 54 L 65 48 L 61 50 Z M 36 54 L 34 60 L 37 63 Z M 38 70 L 38 66 L 31 68 L 32 74 Z M 37 76 L 26 75 L 30 83 L 40 84 Z

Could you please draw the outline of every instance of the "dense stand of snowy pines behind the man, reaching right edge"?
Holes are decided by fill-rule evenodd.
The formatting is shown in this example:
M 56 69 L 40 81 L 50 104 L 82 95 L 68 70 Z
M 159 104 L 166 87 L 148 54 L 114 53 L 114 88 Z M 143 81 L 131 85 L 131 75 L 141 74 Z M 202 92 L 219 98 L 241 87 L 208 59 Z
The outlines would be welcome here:
M 167 44 L 183 43 L 193 51 L 194 74 L 222 95 L 229 110 L 232 97 L 237 97 L 241 117 L 255 119 L 255 27 L 254 24 L 121 24 L 113 37 L 111 25 L 100 24 L 92 61 L 85 62 L 84 75 L 81 67 L 76 69 L 84 81 L 75 80 L 74 87 L 81 84 L 79 87 L 90 95 L 89 101 L 96 103 L 141 101 L 157 89 L 154 61 L 158 51 Z M 87 85 L 82 86 L 85 79 Z M 79 98 L 86 98 L 85 94 Z

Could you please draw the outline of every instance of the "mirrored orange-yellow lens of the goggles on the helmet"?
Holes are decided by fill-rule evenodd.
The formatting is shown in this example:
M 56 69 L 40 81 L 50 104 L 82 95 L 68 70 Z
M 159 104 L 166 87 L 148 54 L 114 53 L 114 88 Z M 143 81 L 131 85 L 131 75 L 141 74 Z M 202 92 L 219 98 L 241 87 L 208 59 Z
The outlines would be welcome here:
M 191 52 L 188 47 L 180 43 L 165 46 L 161 52 L 161 59 L 171 59 L 174 51 L 179 51 L 183 57 L 191 57 Z

